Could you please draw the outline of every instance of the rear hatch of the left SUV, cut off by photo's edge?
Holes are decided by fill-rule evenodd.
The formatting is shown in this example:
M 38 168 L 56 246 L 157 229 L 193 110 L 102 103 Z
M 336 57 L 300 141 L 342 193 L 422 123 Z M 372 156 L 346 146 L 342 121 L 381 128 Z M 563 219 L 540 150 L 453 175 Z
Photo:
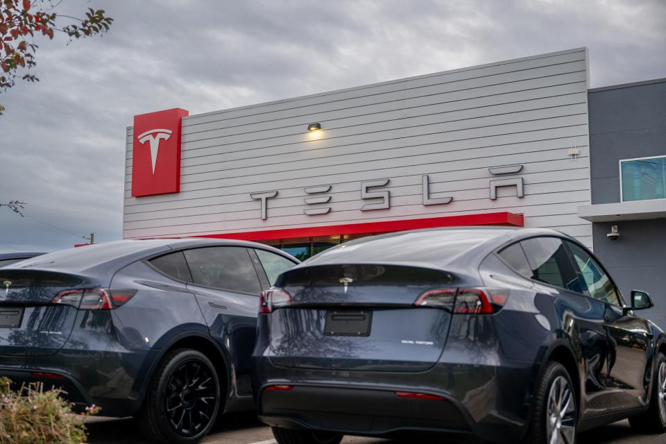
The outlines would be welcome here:
M 68 273 L 0 268 L 0 355 L 54 355 L 69 339 L 77 312 L 54 298 L 62 291 L 94 287 Z

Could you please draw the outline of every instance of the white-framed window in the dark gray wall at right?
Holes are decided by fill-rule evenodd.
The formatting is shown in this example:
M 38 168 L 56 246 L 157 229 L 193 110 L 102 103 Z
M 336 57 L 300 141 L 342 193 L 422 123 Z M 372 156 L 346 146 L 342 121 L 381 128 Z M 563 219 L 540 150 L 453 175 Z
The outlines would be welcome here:
M 620 160 L 622 202 L 666 198 L 666 156 Z

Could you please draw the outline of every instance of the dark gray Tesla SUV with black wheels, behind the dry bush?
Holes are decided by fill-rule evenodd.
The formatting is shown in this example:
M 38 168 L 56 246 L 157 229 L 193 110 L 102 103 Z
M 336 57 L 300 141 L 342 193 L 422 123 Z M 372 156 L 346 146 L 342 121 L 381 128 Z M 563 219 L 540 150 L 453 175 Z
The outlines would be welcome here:
M 241 241 L 118 241 L 0 269 L 0 376 L 62 387 L 78 408 L 198 441 L 254 409 L 259 293 L 298 261 Z

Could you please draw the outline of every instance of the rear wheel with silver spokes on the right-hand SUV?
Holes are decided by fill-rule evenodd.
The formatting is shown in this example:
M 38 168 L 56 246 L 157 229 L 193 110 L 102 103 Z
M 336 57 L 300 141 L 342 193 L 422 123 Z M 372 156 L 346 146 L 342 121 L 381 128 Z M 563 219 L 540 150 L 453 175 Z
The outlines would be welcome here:
M 578 402 L 574 384 L 562 364 L 550 361 L 536 386 L 531 426 L 525 443 L 575 444 L 577 426 Z M 558 439 L 554 440 L 553 434 L 558 434 Z

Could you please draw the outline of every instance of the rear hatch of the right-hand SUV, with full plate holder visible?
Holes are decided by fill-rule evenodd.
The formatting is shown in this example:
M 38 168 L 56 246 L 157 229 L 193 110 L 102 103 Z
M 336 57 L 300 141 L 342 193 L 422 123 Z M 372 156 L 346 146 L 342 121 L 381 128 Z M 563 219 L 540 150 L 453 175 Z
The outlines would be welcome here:
M 295 268 L 276 285 L 284 293 L 271 299 L 290 299 L 268 314 L 271 361 L 295 368 L 427 370 L 445 347 L 456 288 L 469 282 L 420 266 Z M 415 306 L 422 295 L 438 292 L 450 296 L 451 306 Z

